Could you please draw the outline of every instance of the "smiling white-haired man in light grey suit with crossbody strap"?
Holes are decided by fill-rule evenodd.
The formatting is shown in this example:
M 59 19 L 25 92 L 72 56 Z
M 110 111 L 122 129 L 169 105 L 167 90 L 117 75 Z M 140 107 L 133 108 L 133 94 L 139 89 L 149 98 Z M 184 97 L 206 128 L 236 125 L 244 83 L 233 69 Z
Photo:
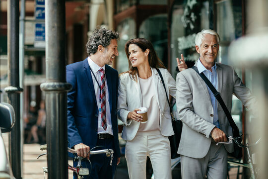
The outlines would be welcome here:
M 232 94 L 251 109 L 255 99 L 244 86 L 234 69 L 216 63 L 219 50 L 219 35 L 213 30 L 202 30 L 196 36 L 196 50 L 200 58 L 195 64 L 203 72 L 231 112 Z M 228 119 L 199 74 L 194 69 L 177 75 L 177 110 L 183 122 L 178 153 L 181 154 L 183 179 L 226 179 L 227 152 L 233 145 L 219 145 L 232 136 Z

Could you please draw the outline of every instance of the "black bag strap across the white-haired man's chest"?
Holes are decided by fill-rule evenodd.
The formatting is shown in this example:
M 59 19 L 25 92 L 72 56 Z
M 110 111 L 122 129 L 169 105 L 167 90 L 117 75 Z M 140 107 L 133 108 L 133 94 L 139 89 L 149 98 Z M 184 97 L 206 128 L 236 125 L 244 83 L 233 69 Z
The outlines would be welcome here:
M 237 129 L 237 125 L 235 124 L 232 115 L 230 114 L 229 110 L 227 109 L 224 101 L 221 98 L 220 93 L 214 88 L 214 86 L 210 83 L 210 81 L 206 78 L 206 76 L 203 73 L 199 73 L 198 68 L 196 66 L 193 66 L 192 69 L 194 69 L 199 75 L 200 77 L 203 79 L 203 81 L 206 83 L 206 85 L 208 86 L 208 88 L 213 92 L 214 96 L 216 97 L 216 99 L 218 100 L 218 102 L 220 103 L 225 115 L 227 116 L 227 119 L 231 125 L 231 127 L 233 129 Z

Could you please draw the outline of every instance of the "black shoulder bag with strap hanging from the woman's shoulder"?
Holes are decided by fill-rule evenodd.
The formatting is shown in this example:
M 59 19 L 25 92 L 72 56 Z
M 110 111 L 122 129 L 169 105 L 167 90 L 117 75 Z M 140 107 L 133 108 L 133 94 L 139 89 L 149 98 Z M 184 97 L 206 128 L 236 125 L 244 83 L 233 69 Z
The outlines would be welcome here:
M 159 69 L 156 69 L 160 78 L 161 78 L 161 81 L 163 83 L 163 86 L 164 86 L 164 89 L 165 89 L 165 92 L 166 92 L 166 96 L 167 96 L 167 101 L 168 101 L 168 105 L 169 105 L 169 108 L 170 108 L 170 115 L 171 115 L 171 123 L 172 123 L 172 128 L 173 128 L 173 131 L 174 131 L 174 135 L 172 136 L 169 136 L 168 139 L 169 139 L 169 142 L 170 142 L 170 152 L 171 152 L 171 159 L 176 159 L 177 157 L 180 157 L 180 154 L 178 154 L 178 149 L 179 149 L 179 144 L 180 144 L 180 140 L 181 140 L 181 135 L 182 135 L 182 121 L 181 120 L 176 120 L 173 113 L 172 113 L 172 108 L 171 108 L 171 105 L 170 105 L 170 102 L 169 102 L 169 97 L 167 95 L 167 90 L 166 90 L 166 87 L 165 87 L 165 83 L 164 83 L 164 79 L 162 77 L 162 74 L 160 72 Z

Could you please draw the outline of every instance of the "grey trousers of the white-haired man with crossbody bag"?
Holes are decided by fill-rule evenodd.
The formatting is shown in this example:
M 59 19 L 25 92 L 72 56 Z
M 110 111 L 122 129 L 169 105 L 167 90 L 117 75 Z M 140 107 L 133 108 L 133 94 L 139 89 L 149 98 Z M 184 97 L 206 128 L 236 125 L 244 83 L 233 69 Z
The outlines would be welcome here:
M 204 158 L 194 159 L 181 155 L 182 179 L 226 179 L 227 151 L 224 145 L 211 142 Z

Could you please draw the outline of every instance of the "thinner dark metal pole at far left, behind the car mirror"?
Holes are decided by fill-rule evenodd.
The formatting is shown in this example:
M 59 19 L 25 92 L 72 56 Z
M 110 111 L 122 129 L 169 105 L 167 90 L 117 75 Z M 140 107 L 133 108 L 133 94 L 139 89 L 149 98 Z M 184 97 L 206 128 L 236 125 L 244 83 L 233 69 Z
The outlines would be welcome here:
M 7 79 L 8 102 L 14 107 L 16 122 L 9 135 L 9 160 L 13 175 L 21 179 L 21 134 L 19 87 L 19 1 L 7 0 Z

